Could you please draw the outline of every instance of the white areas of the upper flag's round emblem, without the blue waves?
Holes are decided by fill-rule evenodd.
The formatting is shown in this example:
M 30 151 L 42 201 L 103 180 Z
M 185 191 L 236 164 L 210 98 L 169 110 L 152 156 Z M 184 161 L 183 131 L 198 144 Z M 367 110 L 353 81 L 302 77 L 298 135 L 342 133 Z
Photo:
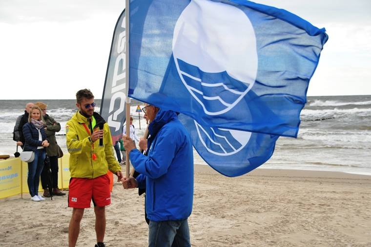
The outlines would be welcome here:
M 254 28 L 247 15 L 235 6 L 209 0 L 191 0 L 176 22 L 172 46 L 180 78 L 206 114 L 219 115 L 231 110 L 255 82 L 258 55 Z M 234 102 L 226 103 L 220 98 L 219 101 L 225 107 L 217 111 L 210 110 L 204 101 L 217 100 L 217 97 L 204 97 L 200 100 L 200 96 L 197 97 L 196 94 L 202 93 L 186 83 L 186 73 L 181 71 L 178 59 L 203 72 L 226 71 L 230 77 L 244 83 L 247 89 L 230 90 L 237 95 Z

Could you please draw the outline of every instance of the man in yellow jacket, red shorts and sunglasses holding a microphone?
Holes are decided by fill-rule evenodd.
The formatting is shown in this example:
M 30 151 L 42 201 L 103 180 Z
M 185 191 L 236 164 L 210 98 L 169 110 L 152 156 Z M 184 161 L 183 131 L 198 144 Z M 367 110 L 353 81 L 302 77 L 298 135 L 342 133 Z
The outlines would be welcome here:
M 114 156 L 108 124 L 94 112 L 94 95 L 88 89 L 76 93 L 76 112 L 66 124 L 67 149 L 70 153 L 68 206 L 73 207 L 68 229 L 68 246 L 75 247 L 84 208 L 93 201 L 97 244 L 104 247 L 105 206 L 111 203 L 108 170 L 123 178 Z

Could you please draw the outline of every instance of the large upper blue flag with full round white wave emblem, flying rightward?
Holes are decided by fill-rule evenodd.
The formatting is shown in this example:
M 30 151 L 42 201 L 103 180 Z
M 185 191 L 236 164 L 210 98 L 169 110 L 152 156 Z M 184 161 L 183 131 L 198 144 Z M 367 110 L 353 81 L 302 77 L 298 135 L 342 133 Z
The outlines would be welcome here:
M 296 137 L 325 29 L 246 0 L 131 0 L 129 97 L 200 126 Z

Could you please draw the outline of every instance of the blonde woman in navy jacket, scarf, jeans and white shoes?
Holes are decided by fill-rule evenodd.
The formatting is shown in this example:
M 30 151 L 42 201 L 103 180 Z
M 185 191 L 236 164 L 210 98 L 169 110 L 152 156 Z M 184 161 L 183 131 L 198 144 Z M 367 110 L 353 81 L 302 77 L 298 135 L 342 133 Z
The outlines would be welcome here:
M 45 198 L 39 196 L 39 182 L 45 159 L 45 147 L 49 146 L 42 121 L 42 112 L 40 107 L 33 106 L 28 116 L 28 123 L 23 125 L 24 147 L 23 151 L 35 152 L 35 159 L 28 163 L 28 190 L 31 200 L 40 202 Z

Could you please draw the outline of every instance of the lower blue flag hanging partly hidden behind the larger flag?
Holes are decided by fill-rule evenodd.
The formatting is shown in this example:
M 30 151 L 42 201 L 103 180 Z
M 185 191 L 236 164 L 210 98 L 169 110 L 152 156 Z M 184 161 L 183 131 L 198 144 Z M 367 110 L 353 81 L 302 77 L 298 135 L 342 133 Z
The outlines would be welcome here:
M 197 153 L 212 168 L 228 177 L 243 175 L 266 162 L 273 154 L 278 135 L 201 126 L 179 114 Z

